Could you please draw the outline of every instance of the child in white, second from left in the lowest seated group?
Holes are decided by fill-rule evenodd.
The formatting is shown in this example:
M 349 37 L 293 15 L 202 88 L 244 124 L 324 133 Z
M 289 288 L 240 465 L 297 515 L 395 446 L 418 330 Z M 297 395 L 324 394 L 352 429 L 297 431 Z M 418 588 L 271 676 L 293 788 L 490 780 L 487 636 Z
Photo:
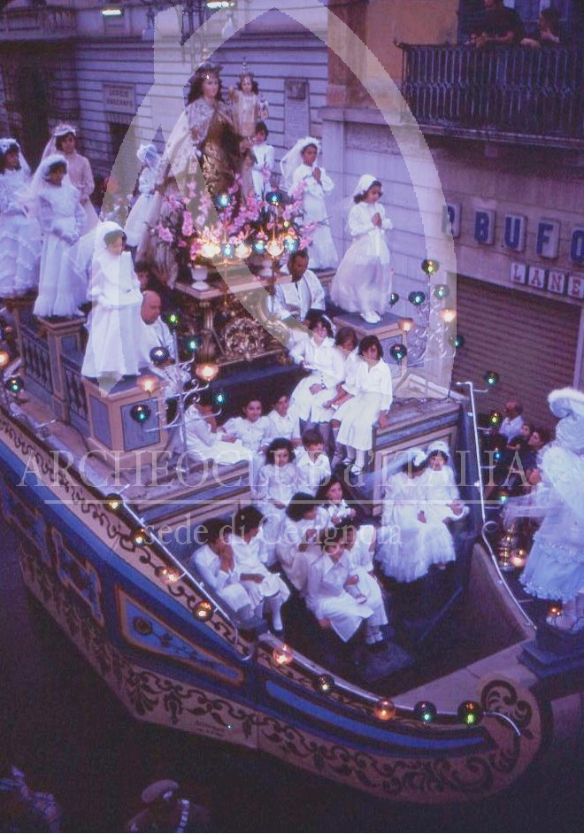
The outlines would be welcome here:
M 260 534 L 263 520 L 264 516 L 256 506 L 243 507 L 234 514 L 229 544 L 233 548 L 240 582 L 250 595 L 254 613 L 263 616 L 267 603 L 272 615 L 273 630 L 281 633 L 281 607 L 290 596 L 290 591 L 281 576 L 270 573 L 266 567 L 268 552 Z

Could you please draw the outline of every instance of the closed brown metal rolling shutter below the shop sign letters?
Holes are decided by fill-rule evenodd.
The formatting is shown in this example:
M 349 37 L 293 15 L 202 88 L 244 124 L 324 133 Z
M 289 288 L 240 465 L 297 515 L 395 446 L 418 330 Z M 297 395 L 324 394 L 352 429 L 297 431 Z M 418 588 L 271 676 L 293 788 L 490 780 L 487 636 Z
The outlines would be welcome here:
M 496 371 L 500 382 L 478 395 L 479 411 L 501 410 L 518 397 L 526 420 L 551 428 L 556 420 L 546 399 L 550 390 L 572 385 L 579 322 L 577 305 L 458 276 L 457 332 L 465 344 L 453 379 L 486 388 L 483 374 Z

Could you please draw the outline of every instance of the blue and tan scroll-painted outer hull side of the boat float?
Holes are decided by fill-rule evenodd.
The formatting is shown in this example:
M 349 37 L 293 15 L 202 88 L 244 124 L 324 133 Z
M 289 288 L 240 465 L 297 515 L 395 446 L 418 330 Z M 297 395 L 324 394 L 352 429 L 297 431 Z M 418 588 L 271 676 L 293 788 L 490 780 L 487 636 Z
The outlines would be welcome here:
M 407 709 L 380 721 L 365 691 L 315 691 L 319 670 L 303 658 L 276 666 L 272 636 L 254 644 L 219 610 L 202 622 L 201 589 L 169 583 L 156 548 L 136 547 L 127 521 L 73 472 L 53 477 L 51 455 L 34 436 L 5 413 L 0 423 L 2 510 L 19 533 L 27 587 L 135 718 L 409 802 L 488 796 L 533 760 L 539 707 L 500 676 L 481 684 L 480 699 L 491 713 L 520 719 L 519 736 L 495 715 L 470 728 L 452 715 L 425 725 Z M 455 697 L 465 696 L 473 693 Z

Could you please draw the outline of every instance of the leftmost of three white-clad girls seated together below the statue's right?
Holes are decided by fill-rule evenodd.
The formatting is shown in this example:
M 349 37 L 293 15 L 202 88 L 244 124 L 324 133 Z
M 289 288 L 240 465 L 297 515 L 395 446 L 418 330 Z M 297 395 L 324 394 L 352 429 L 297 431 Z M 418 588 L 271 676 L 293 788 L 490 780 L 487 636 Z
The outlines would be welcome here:
M 316 314 L 295 346 L 293 359 L 310 371 L 292 392 L 291 403 L 301 420 L 327 423 L 333 416 L 324 404 L 336 394 L 336 386 L 344 379 L 342 357 L 334 349 L 333 329 L 324 314 Z

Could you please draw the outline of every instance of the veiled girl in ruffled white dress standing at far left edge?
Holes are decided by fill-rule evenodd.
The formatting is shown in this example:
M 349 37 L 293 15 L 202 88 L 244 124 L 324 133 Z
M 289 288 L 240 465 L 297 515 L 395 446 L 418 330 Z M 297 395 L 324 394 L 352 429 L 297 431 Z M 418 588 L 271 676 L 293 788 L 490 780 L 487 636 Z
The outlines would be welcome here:
M 16 139 L 0 139 L 0 297 L 13 298 L 39 282 L 41 229 L 27 212 L 30 168 Z

